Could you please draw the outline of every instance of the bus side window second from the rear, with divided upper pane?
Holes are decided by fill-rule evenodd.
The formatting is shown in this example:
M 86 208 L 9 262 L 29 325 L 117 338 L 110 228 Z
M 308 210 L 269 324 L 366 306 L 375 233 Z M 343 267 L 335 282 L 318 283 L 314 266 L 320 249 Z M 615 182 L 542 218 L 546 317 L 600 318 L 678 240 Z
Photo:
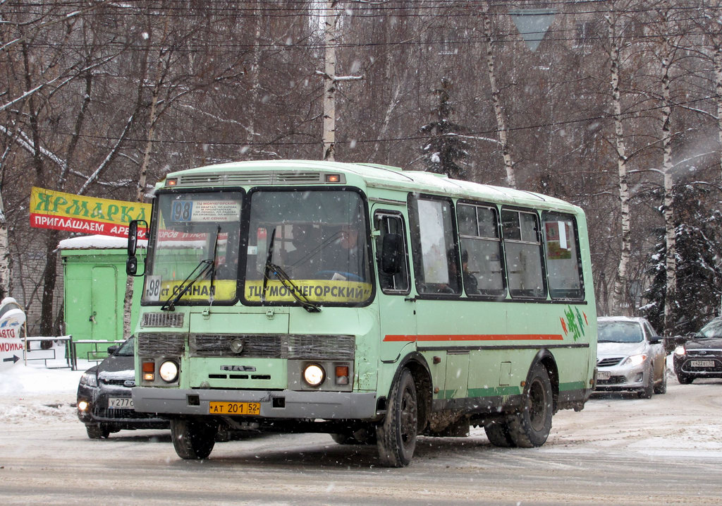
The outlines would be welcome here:
M 545 298 L 536 213 L 505 209 L 501 220 L 509 293 L 513 297 Z

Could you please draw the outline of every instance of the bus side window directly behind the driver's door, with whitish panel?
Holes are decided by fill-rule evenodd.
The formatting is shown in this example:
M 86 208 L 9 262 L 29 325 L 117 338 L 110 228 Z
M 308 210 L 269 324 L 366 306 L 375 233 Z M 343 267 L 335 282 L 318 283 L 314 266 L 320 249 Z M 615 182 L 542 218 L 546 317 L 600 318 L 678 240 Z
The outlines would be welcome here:
M 451 200 L 418 197 L 410 199 L 409 204 L 417 291 L 424 295 L 458 295 L 461 266 L 454 240 Z

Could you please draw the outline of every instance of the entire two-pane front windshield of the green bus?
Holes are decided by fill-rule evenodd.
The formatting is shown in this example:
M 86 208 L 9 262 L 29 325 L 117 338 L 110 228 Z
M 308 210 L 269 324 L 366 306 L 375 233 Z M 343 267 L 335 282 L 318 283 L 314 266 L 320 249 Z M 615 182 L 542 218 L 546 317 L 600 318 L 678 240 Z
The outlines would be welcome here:
M 230 304 L 245 281 L 249 305 L 357 305 L 372 283 L 363 200 L 339 190 L 256 190 L 250 216 L 240 192 L 157 197 L 143 301 Z M 248 212 L 248 211 L 245 211 Z M 240 257 L 248 220 L 247 257 Z M 245 279 L 239 272 L 239 263 Z M 310 303 L 311 306 L 306 304 Z

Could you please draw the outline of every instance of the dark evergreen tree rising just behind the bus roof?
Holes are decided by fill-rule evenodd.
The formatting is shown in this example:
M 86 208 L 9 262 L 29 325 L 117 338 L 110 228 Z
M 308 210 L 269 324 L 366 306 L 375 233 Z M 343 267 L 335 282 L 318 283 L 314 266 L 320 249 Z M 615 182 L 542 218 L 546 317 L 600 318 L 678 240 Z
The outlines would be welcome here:
M 443 77 L 441 87 L 433 93 L 439 100 L 432 111 L 435 121 L 419 129 L 422 134 L 429 136 L 429 140 L 422 147 L 426 170 L 446 174 L 452 179 L 469 179 L 468 168 L 461 163 L 461 160 L 469 156 L 469 143 L 460 136 L 464 128 L 451 120 L 451 81 Z

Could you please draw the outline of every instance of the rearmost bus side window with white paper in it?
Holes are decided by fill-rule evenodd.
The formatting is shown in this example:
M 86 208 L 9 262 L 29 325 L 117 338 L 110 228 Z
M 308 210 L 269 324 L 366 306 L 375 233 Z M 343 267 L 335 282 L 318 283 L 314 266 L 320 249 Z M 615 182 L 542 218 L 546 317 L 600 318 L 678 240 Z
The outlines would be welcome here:
M 573 216 L 544 213 L 544 252 L 552 299 L 584 298 L 577 224 Z

